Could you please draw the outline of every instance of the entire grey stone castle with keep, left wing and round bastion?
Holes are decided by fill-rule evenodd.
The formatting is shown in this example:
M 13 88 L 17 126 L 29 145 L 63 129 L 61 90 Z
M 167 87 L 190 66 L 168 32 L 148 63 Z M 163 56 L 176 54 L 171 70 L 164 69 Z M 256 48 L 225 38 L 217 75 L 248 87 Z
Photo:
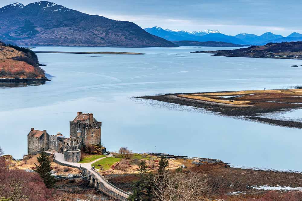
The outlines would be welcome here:
M 69 122 L 69 137 L 61 133 L 49 135 L 46 130 L 31 131 L 27 135 L 27 153 L 35 155 L 49 149 L 62 152 L 67 162 L 79 162 L 83 145 L 101 145 L 102 122 L 96 121 L 93 114 L 78 112 Z

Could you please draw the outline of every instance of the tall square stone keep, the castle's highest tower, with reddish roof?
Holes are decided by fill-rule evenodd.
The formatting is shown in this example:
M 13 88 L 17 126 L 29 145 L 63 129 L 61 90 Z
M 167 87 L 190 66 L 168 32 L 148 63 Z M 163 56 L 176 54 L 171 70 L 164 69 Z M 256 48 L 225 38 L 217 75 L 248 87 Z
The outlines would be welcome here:
M 70 137 L 83 137 L 84 145 L 101 145 L 102 122 L 97 121 L 93 114 L 78 112 L 69 125 Z

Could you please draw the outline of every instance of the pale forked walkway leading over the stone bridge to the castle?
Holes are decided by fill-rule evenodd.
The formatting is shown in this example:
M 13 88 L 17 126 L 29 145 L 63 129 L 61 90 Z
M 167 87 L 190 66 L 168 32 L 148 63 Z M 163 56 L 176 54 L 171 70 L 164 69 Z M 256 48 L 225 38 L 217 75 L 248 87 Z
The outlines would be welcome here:
M 48 152 L 48 151 L 46 151 L 46 152 L 52 154 L 52 152 Z M 94 160 L 94 161 L 92 161 L 92 162 L 90 162 L 90 163 L 72 163 L 72 162 L 67 162 L 67 161 L 64 160 L 64 155 L 63 155 L 63 153 L 55 152 L 54 155 L 55 155 L 55 159 L 56 159 L 58 162 L 62 163 L 62 164 L 72 165 L 72 166 L 75 166 L 75 167 L 78 167 L 78 168 L 80 168 L 80 167 L 86 168 L 86 169 L 90 172 L 90 174 L 93 174 L 93 175 L 98 179 L 98 181 L 100 181 L 102 184 L 104 184 L 104 186 L 105 186 L 107 189 L 113 191 L 114 193 L 117 193 L 117 194 L 119 194 L 120 196 L 125 197 L 125 198 L 127 198 L 127 197 L 129 196 L 129 195 L 127 195 L 126 193 L 124 193 L 123 191 L 121 191 L 120 189 L 118 189 L 117 187 L 114 187 L 112 184 L 110 185 L 110 184 L 108 183 L 108 181 L 106 181 L 106 180 L 104 179 L 104 177 L 101 177 L 99 174 L 97 174 L 95 171 L 92 170 L 92 166 L 91 166 L 91 165 L 92 165 L 93 163 L 95 163 L 95 162 L 97 162 L 97 161 L 99 161 L 99 160 L 108 158 L 108 157 L 112 157 L 112 155 L 108 155 L 108 156 L 106 156 L 106 157 L 103 157 L 103 158 L 100 158 L 100 159 L 96 159 L 96 160 Z

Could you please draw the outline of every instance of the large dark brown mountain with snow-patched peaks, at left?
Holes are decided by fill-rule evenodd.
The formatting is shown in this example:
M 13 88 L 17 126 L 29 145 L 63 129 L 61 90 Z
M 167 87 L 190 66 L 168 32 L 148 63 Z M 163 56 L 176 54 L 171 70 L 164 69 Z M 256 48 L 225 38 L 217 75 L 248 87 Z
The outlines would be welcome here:
M 40 1 L 0 8 L 0 40 L 18 45 L 177 47 L 134 23 Z

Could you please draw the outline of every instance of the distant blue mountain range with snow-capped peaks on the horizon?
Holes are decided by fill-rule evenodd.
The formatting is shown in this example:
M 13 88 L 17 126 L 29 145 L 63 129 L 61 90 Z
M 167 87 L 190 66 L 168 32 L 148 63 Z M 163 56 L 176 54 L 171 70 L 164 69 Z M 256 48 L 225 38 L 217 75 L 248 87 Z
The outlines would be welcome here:
M 302 34 L 294 32 L 283 37 L 281 35 L 276 35 L 271 32 L 266 32 L 261 36 L 249 33 L 240 33 L 236 36 L 229 36 L 220 33 L 218 30 L 204 30 L 204 31 L 183 31 L 183 30 L 170 30 L 162 29 L 161 27 L 152 27 L 144 29 L 148 33 L 155 36 L 162 37 L 169 41 L 217 41 L 217 42 L 227 42 L 238 45 L 263 45 L 269 42 L 292 42 L 292 41 L 302 41 Z

